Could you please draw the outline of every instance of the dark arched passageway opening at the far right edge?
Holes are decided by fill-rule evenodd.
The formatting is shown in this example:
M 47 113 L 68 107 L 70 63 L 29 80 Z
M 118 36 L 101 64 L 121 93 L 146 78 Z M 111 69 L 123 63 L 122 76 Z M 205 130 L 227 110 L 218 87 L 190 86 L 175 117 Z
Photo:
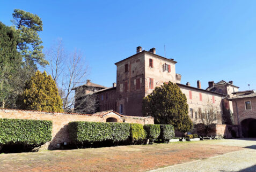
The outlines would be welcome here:
M 256 137 L 256 119 L 245 119 L 241 122 L 244 137 Z

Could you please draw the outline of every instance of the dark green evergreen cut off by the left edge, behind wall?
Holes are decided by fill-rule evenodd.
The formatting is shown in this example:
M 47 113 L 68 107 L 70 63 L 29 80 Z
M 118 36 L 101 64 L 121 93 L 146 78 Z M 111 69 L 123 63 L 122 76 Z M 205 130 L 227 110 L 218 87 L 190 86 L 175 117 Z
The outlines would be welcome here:
M 0 22 L 0 104 L 2 108 L 12 104 L 14 80 L 21 65 L 16 50 L 18 34 L 12 27 Z

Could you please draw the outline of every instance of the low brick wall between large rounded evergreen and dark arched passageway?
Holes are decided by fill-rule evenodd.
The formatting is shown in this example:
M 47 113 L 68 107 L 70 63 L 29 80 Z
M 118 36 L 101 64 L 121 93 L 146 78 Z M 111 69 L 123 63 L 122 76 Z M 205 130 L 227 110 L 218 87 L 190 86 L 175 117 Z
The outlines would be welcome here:
M 196 132 L 200 136 L 204 136 L 204 124 L 196 125 Z M 236 138 L 238 135 L 238 126 L 229 124 L 212 124 L 207 136 L 222 135 L 224 138 Z

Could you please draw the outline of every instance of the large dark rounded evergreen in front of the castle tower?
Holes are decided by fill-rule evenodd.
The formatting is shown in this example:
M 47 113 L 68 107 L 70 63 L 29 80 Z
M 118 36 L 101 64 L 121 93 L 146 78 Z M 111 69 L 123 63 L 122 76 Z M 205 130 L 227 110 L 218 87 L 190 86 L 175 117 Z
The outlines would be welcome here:
M 172 124 L 175 130 L 187 132 L 193 127 L 188 116 L 187 98 L 177 84 L 169 82 L 156 87 L 143 98 L 142 112 L 153 116 L 157 124 Z

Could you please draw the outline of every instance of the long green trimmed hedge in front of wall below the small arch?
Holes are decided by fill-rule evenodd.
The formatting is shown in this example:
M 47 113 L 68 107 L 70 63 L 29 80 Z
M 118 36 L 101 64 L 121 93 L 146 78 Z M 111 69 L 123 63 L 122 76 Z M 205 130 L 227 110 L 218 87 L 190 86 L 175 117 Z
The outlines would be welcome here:
M 119 142 L 129 137 L 128 123 L 69 122 L 69 137 L 75 144 L 112 140 Z

